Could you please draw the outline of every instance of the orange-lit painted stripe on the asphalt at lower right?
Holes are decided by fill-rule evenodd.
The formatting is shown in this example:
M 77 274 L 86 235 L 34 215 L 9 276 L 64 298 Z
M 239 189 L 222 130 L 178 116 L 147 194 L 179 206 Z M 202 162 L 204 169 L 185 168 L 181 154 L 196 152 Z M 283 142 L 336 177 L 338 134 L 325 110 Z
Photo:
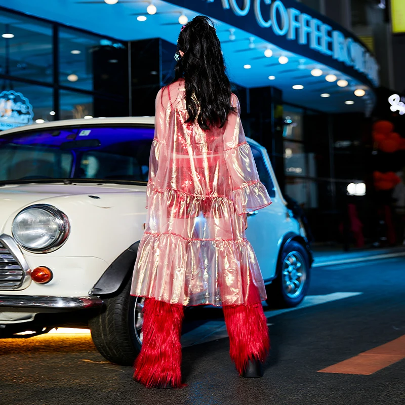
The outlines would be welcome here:
M 319 370 L 318 373 L 359 374 L 369 376 L 405 358 L 405 335 L 374 349 Z

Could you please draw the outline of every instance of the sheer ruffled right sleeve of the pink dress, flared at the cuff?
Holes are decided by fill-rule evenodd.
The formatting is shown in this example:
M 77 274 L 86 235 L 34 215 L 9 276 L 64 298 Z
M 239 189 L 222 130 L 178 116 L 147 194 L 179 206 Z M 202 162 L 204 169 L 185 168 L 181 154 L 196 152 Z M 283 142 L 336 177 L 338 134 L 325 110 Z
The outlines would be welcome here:
M 231 101 L 237 111 L 229 113 L 226 123 L 224 157 L 230 175 L 233 202 L 240 215 L 270 205 L 271 199 L 259 180 L 252 150 L 240 121 L 239 101 L 234 94 Z

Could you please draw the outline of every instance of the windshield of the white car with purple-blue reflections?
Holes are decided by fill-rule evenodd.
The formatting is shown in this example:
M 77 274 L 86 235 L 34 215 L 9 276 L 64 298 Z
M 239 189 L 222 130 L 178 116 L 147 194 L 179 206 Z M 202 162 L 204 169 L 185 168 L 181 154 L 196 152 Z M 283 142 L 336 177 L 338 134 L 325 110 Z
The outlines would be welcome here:
M 147 182 L 153 133 L 153 126 L 71 126 L 0 136 L 0 183 Z

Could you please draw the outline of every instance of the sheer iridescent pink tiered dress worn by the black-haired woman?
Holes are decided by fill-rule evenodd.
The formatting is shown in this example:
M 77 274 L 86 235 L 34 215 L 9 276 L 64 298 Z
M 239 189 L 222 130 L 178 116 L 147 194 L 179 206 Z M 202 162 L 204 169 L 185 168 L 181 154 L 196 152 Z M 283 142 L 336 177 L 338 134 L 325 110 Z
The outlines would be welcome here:
M 271 200 L 259 181 L 234 94 L 231 103 L 237 112 L 229 113 L 225 126 L 204 131 L 185 122 L 184 80 L 157 94 L 148 212 L 132 295 L 183 305 L 266 299 L 241 214 Z

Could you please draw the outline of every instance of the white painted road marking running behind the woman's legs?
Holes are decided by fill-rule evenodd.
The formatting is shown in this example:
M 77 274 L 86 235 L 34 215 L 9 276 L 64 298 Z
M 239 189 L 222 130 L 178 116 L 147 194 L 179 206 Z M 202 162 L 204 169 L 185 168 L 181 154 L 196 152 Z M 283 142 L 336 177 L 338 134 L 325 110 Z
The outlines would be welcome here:
M 296 311 L 298 309 L 308 308 L 314 305 L 326 304 L 327 302 L 355 297 L 360 294 L 362 293 L 332 293 L 325 295 L 308 295 L 297 307 L 264 311 L 264 314 L 266 315 L 266 318 L 271 318 L 281 313 Z M 185 333 L 181 337 L 181 344 L 183 347 L 194 346 L 227 337 L 228 333 L 226 331 L 225 322 L 223 320 L 210 320 L 204 323 L 204 325 L 201 325 L 198 328 Z

